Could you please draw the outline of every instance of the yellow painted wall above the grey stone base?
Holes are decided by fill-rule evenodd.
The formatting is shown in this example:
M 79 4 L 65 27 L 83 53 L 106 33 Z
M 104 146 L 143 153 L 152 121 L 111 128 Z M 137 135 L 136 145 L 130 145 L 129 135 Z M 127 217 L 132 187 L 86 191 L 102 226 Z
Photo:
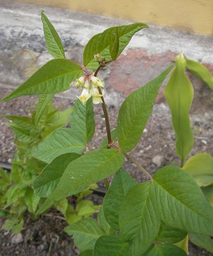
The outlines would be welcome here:
M 213 35 L 213 0 L 14 0 Z

